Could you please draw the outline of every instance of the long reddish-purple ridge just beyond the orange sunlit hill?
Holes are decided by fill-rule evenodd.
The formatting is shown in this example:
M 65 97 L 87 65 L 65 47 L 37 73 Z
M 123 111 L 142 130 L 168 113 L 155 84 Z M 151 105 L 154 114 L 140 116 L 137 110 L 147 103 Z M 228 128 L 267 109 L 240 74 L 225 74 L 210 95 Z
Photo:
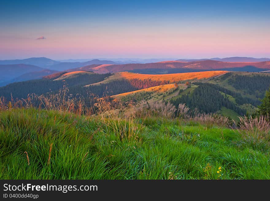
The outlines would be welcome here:
M 75 69 L 75 71 L 77 70 L 78 69 Z M 99 67 L 89 67 L 89 70 L 95 73 L 115 73 L 115 72 L 129 71 L 129 72 L 138 72 L 141 74 L 165 74 L 165 73 L 200 72 L 213 70 L 259 72 L 263 70 L 270 70 L 270 61 L 263 61 L 263 62 L 222 62 L 214 60 L 192 61 L 192 62 L 163 61 L 149 64 L 104 65 Z

